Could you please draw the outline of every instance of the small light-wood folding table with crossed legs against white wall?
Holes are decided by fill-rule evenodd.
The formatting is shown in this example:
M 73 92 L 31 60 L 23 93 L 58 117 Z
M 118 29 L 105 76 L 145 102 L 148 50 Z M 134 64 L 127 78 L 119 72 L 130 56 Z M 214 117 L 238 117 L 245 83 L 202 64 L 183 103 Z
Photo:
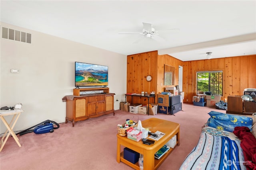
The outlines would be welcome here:
M 0 148 L 0 152 L 2 151 L 7 139 L 9 138 L 10 134 L 12 134 L 12 137 L 14 138 L 14 140 L 16 141 L 16 143 L 18 144 L 19 147 L 21 147 L 20 143 L 19 143 L 19 139 L 16 136 L 16 134 L 14 133 L 14 131 L 12 130 L 18 120 L 18 118 L 20 117 L 20 113 L 23 112 L 23 109 L 18 109 L 18 110 L 0 110 L 0 119 L 3 121 L 4 125 L 7 127 L 2 139 L 1 139 L 1 148 Z M 10 123 L 8 124 L 7 121 L 4 119 L 4 116 L 8 116 L 8 115 L 13 115 L 12 120 L 10 121 Z M 9 132 L 8 132 L 9 131 Z M 7 134 L 8 133 L 8 134 Z M 7 134 L 7 135 L 6 135 Z

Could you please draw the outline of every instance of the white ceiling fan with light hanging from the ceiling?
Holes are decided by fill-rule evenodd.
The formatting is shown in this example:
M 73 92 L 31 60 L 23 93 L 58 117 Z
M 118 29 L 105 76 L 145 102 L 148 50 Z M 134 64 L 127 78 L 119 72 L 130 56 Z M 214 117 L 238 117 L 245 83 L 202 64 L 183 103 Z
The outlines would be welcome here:
M 142 32 L 140 32 L 140 33 L 136 33 L 136 32 L 120 32 L 119 34 L 141 34 L 141 35 L 143 35 L 142 37 L 140 37 L 134 43 L 138 43 L 138 41 L 141 41 L 142 38 L 144 38 L 144 37 L 152 38 L 152 39 L 154 39 L 156 41 L 165 41 L 164 38 L 159 36 L 158 31 L 156 31 L 152 27 L 152 23 L 142 22 L 142 24 L 143 24 L 143 29 L 142 29 Z M 166 29 L 166 30 L 179 30 L 179 29 Z

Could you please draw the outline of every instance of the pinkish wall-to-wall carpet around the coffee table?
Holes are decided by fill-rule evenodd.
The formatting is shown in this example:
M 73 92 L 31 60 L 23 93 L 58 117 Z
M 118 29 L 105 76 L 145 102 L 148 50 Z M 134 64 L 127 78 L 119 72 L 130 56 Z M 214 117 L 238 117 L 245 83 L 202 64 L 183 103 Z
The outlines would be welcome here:
M 22 147 L 10 137 L 0 152 L 0 170 L 131 170 L 126 164 L 116 162 L 116 125 L 126 119 L 142 121 L 151 117 L 180 123 L 180 146 L 158 168 L 178 170 L 198 142 L 202 126 L 210 117 L 207 113 L 226 112 L 190 104 L 183 104 L 182 110 L 174 115 L 154 116 L 116 110 L 115 116 L 76 122 L 75 127 L 70 122 L 61 123 L 53 133 L 18 135 Z

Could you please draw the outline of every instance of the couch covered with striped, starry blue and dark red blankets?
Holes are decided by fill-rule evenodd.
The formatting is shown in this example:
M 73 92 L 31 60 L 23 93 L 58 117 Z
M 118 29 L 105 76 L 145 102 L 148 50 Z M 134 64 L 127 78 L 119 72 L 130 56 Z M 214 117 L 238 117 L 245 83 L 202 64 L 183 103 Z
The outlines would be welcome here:
M 198 143 L 180 170 L 256 170 L 256 117 L 208 114 Z

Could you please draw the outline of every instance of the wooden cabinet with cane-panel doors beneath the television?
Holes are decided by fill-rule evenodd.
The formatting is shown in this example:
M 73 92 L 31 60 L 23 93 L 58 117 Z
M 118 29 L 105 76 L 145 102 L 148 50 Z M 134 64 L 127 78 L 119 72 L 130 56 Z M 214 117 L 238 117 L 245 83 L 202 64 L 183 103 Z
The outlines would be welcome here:
M 103 91 L 103 92 L 102 92 Z M 81 92 L 94 92 L 81 94 Z M 97 93 L 98 92 L 98 93 Z M 109 93 L 109 88 L 75 88 L 72 96 L 65 96 L 66 100 L 66 121 L 86 120 L 92 117 L 114 113 L 114 93 Z

